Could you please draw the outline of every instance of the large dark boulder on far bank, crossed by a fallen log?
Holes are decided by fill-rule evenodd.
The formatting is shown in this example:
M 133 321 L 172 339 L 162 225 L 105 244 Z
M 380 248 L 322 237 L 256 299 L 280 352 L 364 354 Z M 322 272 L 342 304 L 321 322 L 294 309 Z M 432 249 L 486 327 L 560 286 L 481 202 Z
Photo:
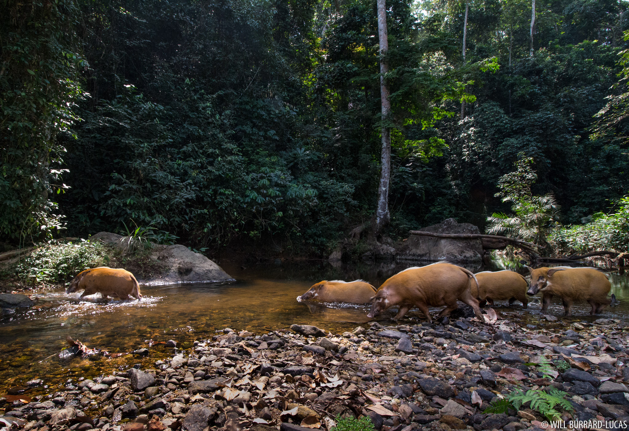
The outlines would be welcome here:
M 447 219 L 433 226 L 419 229 L 437 234 L 480 234 L 477 226 L 470 223 L 457 223 Z M 411 235 L 396 256 L 398 261 L 443 261 L 479 262 L 482 261 L 480 239 L 446 239 L 431 236 Z

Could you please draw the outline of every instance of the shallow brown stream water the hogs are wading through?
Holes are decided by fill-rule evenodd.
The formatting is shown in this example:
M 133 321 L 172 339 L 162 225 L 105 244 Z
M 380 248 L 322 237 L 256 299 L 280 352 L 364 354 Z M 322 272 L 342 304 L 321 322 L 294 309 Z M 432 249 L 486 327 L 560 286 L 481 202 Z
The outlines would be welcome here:
M 217 330 L 230 327 L 247 329 L 257 334 L 287 329 L 291 324 L 317 325 L 333 333 L 352 330 L 364 324 L 367 305 L 333 304 L 321 307 L 316 303 L 298 302 L 296 297 L 321 280 L 356 280 L 362 278 L 379 286 L 386 278 L 411 265 L 396 263 L 332 266 L 329 263 L 283 263 L 282 265 L 250 265 L 221 262 L 221 266 L 237 279 L 230 283 L 199 283 L 143 287 L 141 302 L 136 300 L 102 300 L 99 295 L 78 300 L 80 293 L 66 295 L 58 289 L 38 293 L 38 304 L 30 310 L 3 314 L 0 318 L 0 396 L 22 393 L 23 385 L 31 379 L 52 381 L 95 377 L 126 369 L 130 364 L 150 366 L 155 357 L 164 354 L 164 343 L 177 341 L 186 349 L 196 339 L 211 337 Z M 509 261 L 493 261 L 489 267 L 468 267 L 481 270 L 515 269 Z M 526 274 L 526 270 L 521 270 Z M 603 314 L 589 316 L 589 305 L 577 303 L 569 321 L 591 321 L 601 317 L 625 320 L 629 311 L 629 276 L 609 273 L 612 293 L 620 300 L 617 307 L 605 308 Z M 497 310 L 515 311 L 526 320 L 537 316 L 540 303 L 529 303 L 528 311 L 516 302 L 496 302 Z M 435 311 L 434 308 L 431 311 Z M 548 310 L 563 315 L 560 300 Z M 391 310 L 378 317 L 383 325 L 395 324 Z M 415 308 L 403 321 L 422 321 Z M 88 347 L 108 352 L 106 356 L 90 359 L 75 357 L 60 360 L 58 352 L 67 347 L 65 338 L 71 336 Z M 149 348 L 148 356 L 132 352 Z M 172 348 L 170 348 L 172 351 Z M 27 393 L 45 393 L 40 386 Z

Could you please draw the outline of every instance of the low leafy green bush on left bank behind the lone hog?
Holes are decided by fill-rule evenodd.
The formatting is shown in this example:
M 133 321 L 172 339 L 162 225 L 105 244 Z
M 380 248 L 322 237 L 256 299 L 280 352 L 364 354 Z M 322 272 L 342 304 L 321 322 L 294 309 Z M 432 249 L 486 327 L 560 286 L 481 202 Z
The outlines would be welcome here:
M 89 268 L 109 263 L 109 251 L 103 244 L 84 239 L 77 243 L 51 241 L 35 249 L 16 265 L 16 274 L 28 285 L 66 283 Z

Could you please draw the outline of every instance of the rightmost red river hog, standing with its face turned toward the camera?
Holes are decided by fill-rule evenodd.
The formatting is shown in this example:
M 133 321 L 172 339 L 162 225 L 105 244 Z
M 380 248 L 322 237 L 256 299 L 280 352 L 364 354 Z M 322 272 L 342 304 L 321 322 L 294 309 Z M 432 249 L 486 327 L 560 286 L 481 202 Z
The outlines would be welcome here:
M 528 268 L 531 273 L 531 284 L 527 295 L 542 292 L 542 313 L 545 313 L 550 300 L 555 295 L 564 302 L 565 315 L 572 315 L 574 301 L 586 301 L 591 305 L 590 314 L 597 314 L 605 305 L 610 305 L 607 297 L 611 290 L 610 280 L 595 268 Z

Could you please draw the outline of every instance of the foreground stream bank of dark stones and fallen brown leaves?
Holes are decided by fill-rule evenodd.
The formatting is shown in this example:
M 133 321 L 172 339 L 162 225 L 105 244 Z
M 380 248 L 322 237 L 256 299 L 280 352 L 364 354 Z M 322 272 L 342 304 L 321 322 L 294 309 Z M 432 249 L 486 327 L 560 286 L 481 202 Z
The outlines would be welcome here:
M 371 322 L 343 334 L 308 325 L 265 334 L 224 329 L 190 349 L 170 341 L 169 356 L 152 368 L 130 363 L 94 379 L 29 381 L 40 395 L 0 398 L 0 426 L 309 431 L 330 430 L 338 417 L 366 416 L 384 431 L 520 431 L 543 428 L 547 418 L 526 404 L 519 412 L 484 410 L 518 389 L 558 388 L 572 405 L 564 420 L 620 421 L 626 428 L 629 327 L 610 319 L 494 316 L 491 324 Z M 545 369 L 526 365 L 543 363 L 542 356 L 550 362 Z M 544 378 L 548 373 L 553 378 Z

